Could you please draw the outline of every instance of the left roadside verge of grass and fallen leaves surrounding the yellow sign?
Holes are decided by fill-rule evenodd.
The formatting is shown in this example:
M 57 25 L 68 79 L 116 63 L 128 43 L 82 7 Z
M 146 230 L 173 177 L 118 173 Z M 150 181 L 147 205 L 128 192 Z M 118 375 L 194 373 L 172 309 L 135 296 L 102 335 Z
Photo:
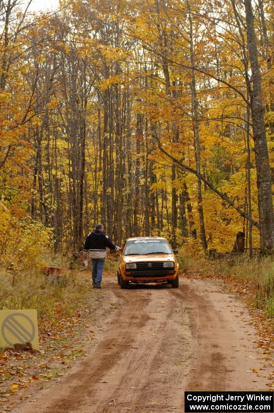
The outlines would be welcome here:
M 48 265 L 54 263 L 58 264 L 52 260 Z M 66 369 L 84 356 L 85 343 L 93 339 L 90 328 L 104 292 L 91 288 L 90 271 L 79 271 L 81 262 L 72 271 L 67 269 L 69 262 L 59 265 L 61 283 L 40 268 L 20 273 L 0 270 L 0 310 L 36 309 L 39 330 L 39 351 L 18 354 L 13 348 L 0 348 L 0 411 L 10 411 L 23 391 L 29 397 L 33 380 L 39 380 L 42 388 L 44 382 L 68 374 Z

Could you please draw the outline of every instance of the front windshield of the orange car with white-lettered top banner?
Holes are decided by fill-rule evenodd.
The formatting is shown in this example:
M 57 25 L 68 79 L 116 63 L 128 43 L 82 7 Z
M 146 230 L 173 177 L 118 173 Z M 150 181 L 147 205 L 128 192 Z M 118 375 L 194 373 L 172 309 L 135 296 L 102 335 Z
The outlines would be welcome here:
M 171 254 L 172 250 L 165 240 L 130 240 L 124 255 Z

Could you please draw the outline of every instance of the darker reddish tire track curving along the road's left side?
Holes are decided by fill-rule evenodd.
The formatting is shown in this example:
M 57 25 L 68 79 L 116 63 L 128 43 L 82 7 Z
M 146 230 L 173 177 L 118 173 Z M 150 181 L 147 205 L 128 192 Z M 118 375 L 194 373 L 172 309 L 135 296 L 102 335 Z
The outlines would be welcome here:
M 41 409 L 41 404 L 43 406 L 41 412 L 81 412 L 82 406 L 84 411 L 86 411 L 85 406 L 87 406 L 88 412 L 90 412 L 91 403 L 92 405 L 97 404 L 97 390 L 100 392 L 100 387 L 106 386 L 106 383 L 100 383 L 100 381 L 105 381 L 103 379 L 105 373 L 115 365 L 123 353 L 127 352 L 134 340 L 136 324 L 142 327 L 147 321 L 146 314 L 138 322 L 134 319 L 134 313 L 139 308 L 139 301 L 138 297 L 132 297 L 130 300 L 132 312 L 128 314 L 129 328 L 123 331 L 122 319 L 114 317 L 113 314 L 109 321 L 111 328 L 108 329 L 107 336 L 97 344 L 92 356 L 83 359 L 77 371 L 64 379 L 61 391 L 51 392 L 49 390 L 48 394 L 39 401 L 40 407 L 33 403 L 33 409 L 29 408 L 27 412 L 38 412 L 37 409 Z M 143 300 L 144 308 L 146 308 L 147 302 L 147 299 Z M 127 296 L 123 299 L 123 305 L 129 306 Z M 111 354 L 110 347 L 113 350 Z

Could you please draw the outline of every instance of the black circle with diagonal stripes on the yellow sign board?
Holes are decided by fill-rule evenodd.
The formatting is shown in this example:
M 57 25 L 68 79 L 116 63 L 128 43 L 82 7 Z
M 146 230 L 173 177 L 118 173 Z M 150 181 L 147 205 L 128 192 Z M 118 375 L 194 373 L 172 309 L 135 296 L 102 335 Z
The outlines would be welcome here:
M 20 317 L 25 318 L 29 322 L 29 329 L 26 329 L 21 325 Z M 7 339 L 7 331 L 9 331 L 16 338 L 17 341 L 11 343 Z M 35 327 L 30 317 L 20 312 L 14 312 L 4 319 L 1 327 L 1 334 L 5 342 L 13 346 L 15 343 L 32 342 L 35 336 Z

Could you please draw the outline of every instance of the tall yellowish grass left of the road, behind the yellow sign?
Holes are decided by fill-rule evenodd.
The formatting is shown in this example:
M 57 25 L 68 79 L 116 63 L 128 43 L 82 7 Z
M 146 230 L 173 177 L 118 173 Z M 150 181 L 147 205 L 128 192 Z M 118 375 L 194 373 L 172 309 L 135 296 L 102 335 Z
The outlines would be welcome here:
M 0 270 L 0 310 L 36 309 L 38 319 L 55 325 L 76 311 L 76 303 L 88 292 L 82 273 L 65 266 L 60 278 L 47 277 L 40 268 L 8 272 Z

